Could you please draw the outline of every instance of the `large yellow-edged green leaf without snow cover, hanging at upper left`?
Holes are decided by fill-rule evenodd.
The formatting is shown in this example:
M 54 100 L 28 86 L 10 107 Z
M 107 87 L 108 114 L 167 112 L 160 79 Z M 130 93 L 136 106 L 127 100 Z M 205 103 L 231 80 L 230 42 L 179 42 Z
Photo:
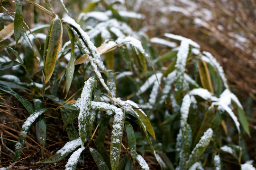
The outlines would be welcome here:
M 62 41 L 62 23 L 60 19 L 56 16 L 55 19 L 52 21 L 50 29 L 47 34 L 48 37 L 48 44 L 46 45 L 46 65 L 45 65 L 45 72 L 46 72 L 46 81 L 45 84 L 48 83 L 50 80 L 54 68 L 55 63 L 57 60 L 57 56 L 59 53 L 61 41 Z M 47 38 L 46 38 L 47 40 Z

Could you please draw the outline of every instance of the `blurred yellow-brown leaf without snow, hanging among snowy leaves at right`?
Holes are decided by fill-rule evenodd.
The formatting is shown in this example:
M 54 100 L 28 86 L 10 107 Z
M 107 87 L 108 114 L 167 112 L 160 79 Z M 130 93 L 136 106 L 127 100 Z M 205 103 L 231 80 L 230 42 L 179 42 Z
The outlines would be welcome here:
M 206 62 L 200 58 L 197 60 L 197 65 L 198 65 L 201 84 L 202 84 L 203 88 L 205 88 L 209 92 L 213 93 L 210 72 L 209 72 L 209 68 L 207 67 Z

